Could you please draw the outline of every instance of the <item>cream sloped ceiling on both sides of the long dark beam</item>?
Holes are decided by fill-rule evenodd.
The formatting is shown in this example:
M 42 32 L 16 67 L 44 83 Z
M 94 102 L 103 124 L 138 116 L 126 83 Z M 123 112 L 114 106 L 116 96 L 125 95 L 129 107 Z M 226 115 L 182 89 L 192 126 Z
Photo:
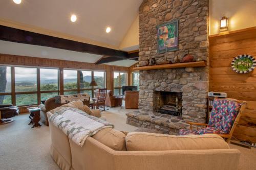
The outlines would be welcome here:
M 12 0 L 1 0 L 0 25 L 119 50 L 119 45 L 138 16 L 141 3 L 142 0 L 22 0 L 22 3 L 17 5 Z M 77 16 L 76 22 L 70 21 L 72 14 Z M 111 27 L 110 33 L 105 32 L 106 27 Z M 9 45 L 20 47 L 15 43 Z M 42 51 L 47 52 L 47 49 L 39 46 L 32 51 L 39 50 L 42 54 Z M 23 48 L 19 50 L 20 53 L 26 54 L 22 52 Z M 6 51 L 8 50 L 0 48 L 0 53 L 7 53 Z M 59 49 L 53 48 L 47 54 L 59 54 L 60 58 L 63 56 L 65 59 L 65 55 L 58 52 Z M 71 55 L 70 53 L 74 56 L 84 55 L 84 58 L 76 59 L 82 59 L 83 62 L 94 62 L 102 57 L 73 51 L 67 54 Z

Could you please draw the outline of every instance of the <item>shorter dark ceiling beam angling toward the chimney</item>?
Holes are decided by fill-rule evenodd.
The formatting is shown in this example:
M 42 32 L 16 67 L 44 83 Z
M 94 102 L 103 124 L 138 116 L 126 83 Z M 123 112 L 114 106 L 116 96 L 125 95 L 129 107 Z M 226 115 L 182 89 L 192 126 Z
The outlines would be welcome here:
M 120 57 L 117 58 L 115 56 L 103 56 L 95 64 L 104 64 L 104 63 L 109 63 L 109 62 L 113 62 L 113 61 L 120 61 L 120 60 L 139 61 L 139 52 L 128 53 L 126 58 L 120 58 Z

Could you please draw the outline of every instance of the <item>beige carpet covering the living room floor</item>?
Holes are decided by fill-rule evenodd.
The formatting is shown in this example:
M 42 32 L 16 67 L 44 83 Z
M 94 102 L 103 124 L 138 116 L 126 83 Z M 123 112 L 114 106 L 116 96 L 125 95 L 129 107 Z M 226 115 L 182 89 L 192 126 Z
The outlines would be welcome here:
M 125 113 L 133 110 L 117 107 L 103 112 L 115 129 L 134 131 L 137 127 L 126 124 Z M 14 117 L 15 122 L 0 126 L 0 169 L 59 169 L 50 156 L 49 127 L 31 129 L 28 114 Z M 256 169 L 256 149 L 251 150 L 230 144 L 241 151 L 239 169 Z

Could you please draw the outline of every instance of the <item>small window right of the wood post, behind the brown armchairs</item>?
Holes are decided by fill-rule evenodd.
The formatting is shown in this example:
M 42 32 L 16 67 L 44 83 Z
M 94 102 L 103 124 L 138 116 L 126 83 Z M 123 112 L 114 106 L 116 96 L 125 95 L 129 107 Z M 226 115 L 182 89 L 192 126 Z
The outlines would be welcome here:
M 122 95 L 122 86 L 127 85 L 127 73 L 114 72 L 114 95 Z

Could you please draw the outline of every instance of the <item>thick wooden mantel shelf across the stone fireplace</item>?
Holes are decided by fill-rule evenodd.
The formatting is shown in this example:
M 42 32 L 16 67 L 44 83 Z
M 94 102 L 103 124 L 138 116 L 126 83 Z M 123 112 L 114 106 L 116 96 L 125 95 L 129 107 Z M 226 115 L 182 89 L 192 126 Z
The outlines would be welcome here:
M 205 61 L 198 61 L 198 62 L 188 62 L 188 63 L 162 64 L 162 65 L 134 67 L 133 71 L 152 70 L 152 69 L 169 69 L 169 68 L 185 68 L 185 67 L 205 67 L 206 65 L 207 65 L 207 63 Z

